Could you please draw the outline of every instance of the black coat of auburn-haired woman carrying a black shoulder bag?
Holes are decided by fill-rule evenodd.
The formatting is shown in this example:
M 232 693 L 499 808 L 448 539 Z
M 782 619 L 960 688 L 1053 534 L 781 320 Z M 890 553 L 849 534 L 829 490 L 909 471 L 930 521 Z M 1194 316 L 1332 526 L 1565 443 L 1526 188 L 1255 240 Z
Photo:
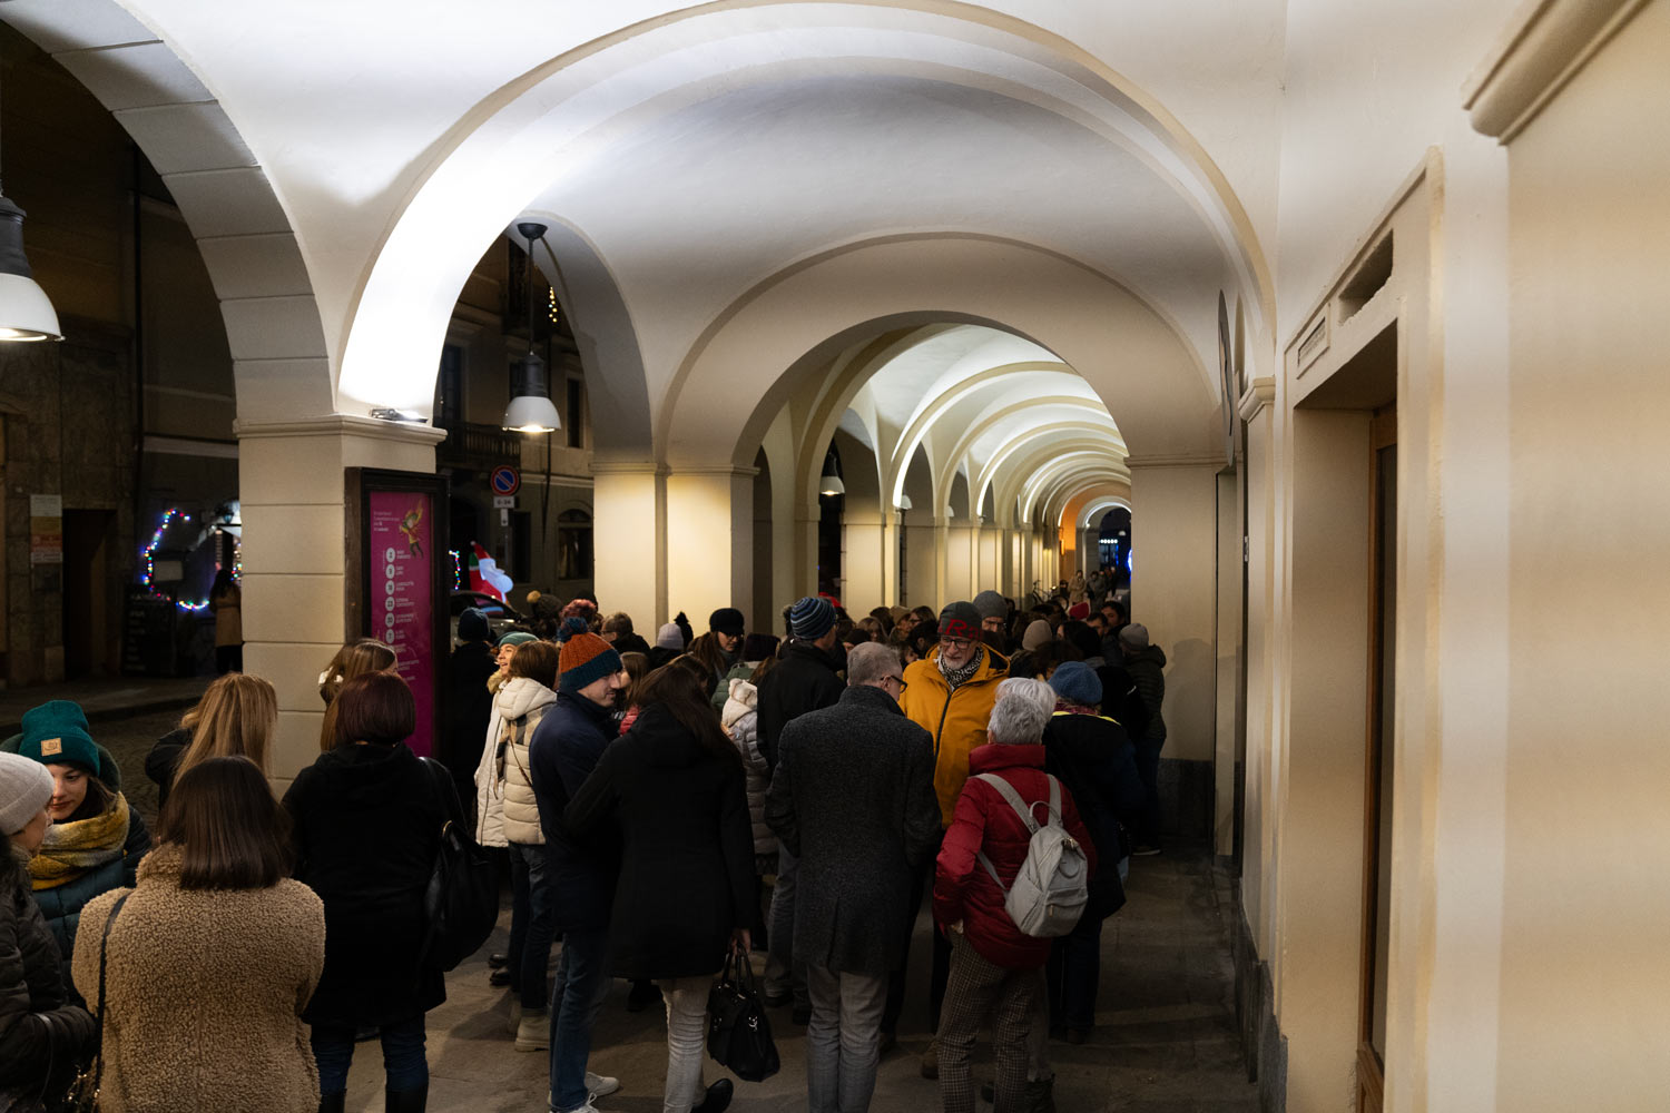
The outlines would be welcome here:
M 404 743 L 349 743 L 302 769 L 284 808 L 296 876 L 324 901 L 324 975 L 302 1020 L 387 1025 L 444 1001 L 441 968 L 419 951 L 441 826 L 461 818 L 451 781 Z

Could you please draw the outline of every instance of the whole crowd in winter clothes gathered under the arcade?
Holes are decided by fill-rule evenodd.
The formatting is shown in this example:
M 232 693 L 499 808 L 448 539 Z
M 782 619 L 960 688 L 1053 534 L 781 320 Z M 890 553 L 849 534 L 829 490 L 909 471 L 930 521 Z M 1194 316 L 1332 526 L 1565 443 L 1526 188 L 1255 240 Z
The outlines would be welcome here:
M 344 646 L 282 801 L 272 684 L 222 674 L 145 761 L 155 838 L 77 704 L 23 716 L 0 743 L 0 1110 L 55 1108 L 94 1051 L 104 1110 L 342 1110 L 369 1038 L 386 1108 L 426 1108 L 446 980 L 424 893 L 449 823 L 503 848 L 491 980 L 514 1048 L 548 1053 L 554 1113 L 621 1086 L 588 1068 L 615 978 L 630 1010 L 665 1008 L 663 1108 L 725 1110 L 706 1010 L 738 956 L 805 1026 L 808 1108 L 867 1110 L 924 896 L 942 1108 L 975 1108 L 982 1026 L 997 1113 L 1054 1108 L 1050 1038 L 1094 1026 L 1102 921 L 1161 826 L 1166 659 L 1106 579 L 857 619 L 808 596 L 782 636 L 723 607 L 653 646 L 591 599 L 546 604 L 498 637 L 459 617 L 434 761 L 396 651 Z M 1012 894 L 1040 828 L 1087 899 L 1029 934 Z

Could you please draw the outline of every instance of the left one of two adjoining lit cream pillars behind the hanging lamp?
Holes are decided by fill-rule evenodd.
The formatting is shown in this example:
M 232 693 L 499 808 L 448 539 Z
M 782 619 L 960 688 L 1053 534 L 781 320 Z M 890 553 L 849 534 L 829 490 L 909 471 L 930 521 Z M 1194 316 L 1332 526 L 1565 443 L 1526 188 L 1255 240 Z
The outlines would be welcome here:
M 666 469 L 660 464 L 591 464 L 593 582 L 605 614 L 625 611 L 645 641 L 668 621 Z

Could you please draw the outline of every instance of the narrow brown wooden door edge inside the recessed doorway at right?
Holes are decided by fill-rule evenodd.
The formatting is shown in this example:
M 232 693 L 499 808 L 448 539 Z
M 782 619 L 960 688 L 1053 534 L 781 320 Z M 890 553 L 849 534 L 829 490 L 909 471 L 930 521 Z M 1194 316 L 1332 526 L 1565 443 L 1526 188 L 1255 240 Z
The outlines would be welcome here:
M 1368 738 L 1363 778 L 1363 1011 L 1358 1110 L 1381 1113 L 1386 1091 L 1386 983 L 1391 954 L 1393 709 L 1398 636 L 1398 407 L 1369 424 Z

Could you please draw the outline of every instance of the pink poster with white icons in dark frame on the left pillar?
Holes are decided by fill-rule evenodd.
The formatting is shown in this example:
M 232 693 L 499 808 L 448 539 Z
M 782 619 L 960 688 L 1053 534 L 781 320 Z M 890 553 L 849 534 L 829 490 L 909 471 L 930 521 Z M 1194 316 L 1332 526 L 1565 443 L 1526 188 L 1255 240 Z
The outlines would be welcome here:
M 396 671 L 418 703 L 411 748 L 434 753 L 434 499 L 372 491 L 369 524 L 371 636 L 391 644 Z

